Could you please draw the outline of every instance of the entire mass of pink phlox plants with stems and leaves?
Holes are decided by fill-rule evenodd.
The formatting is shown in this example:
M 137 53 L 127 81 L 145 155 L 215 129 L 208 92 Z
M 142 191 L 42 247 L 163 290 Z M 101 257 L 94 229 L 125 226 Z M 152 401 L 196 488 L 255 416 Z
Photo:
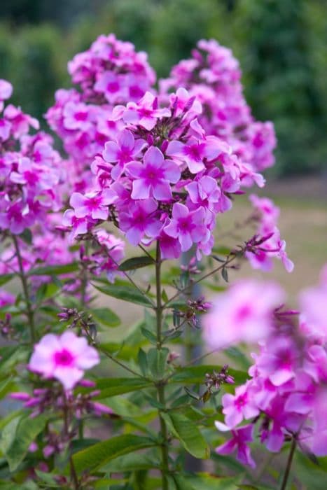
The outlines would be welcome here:
M 327 468 L 327 269 L 299 311 L 234 279 L 293 269 L 237 59 L 202 40 L 156 84 L 110 34 L 69 75 L 53 136 L 0 80 L 0 489 L 300 488 L 296 457 Z

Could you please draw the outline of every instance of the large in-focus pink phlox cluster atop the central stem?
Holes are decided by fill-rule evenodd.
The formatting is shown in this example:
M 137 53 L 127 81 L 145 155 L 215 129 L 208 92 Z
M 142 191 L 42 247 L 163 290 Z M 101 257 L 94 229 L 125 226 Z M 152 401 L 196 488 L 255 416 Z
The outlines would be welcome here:
M 163 108 L 150 92 L 116 106 L 113 118 L 124 129 L 93 162 L 90 192 L 71 195 L 65 219 L 74 235 L 109 219 L 134 246 L 158 240 L 162 258 L 178 258 L 193 244 L 198 256 L 210 253 L 216 215 L 230 209 L 230 195 L 244 180 L 264 181 L 225 141 L 205 134 L 201 110 L 184 89 Z

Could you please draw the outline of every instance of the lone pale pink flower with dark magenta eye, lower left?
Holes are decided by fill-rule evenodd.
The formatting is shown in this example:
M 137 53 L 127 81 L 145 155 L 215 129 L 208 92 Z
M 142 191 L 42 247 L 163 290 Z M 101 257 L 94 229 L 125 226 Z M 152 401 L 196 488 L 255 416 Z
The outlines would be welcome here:
M 99 354 L 85 337 L 67 331 L 47 334 L 34 346 L 29 369 L 46 378 L 55 378 L 66 390 L 74 388 L 84 371 L 99 364 Z

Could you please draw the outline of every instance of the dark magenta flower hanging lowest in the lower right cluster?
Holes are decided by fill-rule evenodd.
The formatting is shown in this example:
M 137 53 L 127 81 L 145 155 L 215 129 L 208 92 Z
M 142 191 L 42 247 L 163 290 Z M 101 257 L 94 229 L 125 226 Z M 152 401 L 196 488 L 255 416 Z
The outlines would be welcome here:
M 215 426 L 218 430 L 222 432 L 227 432 L 230 430 L 225 423 L 216 421 Z M 242 426 L 236 429 L 230 430 L 232 438 L 221 446 L 216 447 L 215 451 L 217 454 L 231 454 L 235 450 L 237 451 L 237 459 L 245 465 L 251 466 L 251 468 L 256 467 L 256 463 L 251 457 L 251 450 L 248 446 L 249 442 L 253 441 L 253 425 L 249 424 L 247 426 Z

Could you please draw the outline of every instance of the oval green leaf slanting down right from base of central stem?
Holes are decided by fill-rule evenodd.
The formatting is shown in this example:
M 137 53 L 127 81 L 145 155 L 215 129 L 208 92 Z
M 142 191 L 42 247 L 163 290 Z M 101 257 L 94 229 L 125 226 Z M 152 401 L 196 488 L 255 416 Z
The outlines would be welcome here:
M 162 413 L 162 416 L 170 430 L 172 430 L 172 433 L 181 441 L 186 451 L 195 458 L 209 458 L 209 446 L 197 428 L 196 423 L 176 412 L 169 412 L 169 414 Z

